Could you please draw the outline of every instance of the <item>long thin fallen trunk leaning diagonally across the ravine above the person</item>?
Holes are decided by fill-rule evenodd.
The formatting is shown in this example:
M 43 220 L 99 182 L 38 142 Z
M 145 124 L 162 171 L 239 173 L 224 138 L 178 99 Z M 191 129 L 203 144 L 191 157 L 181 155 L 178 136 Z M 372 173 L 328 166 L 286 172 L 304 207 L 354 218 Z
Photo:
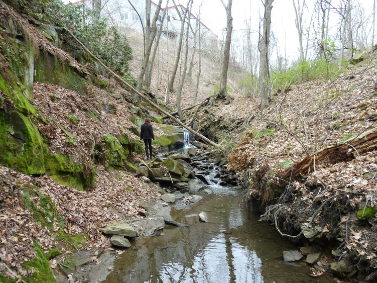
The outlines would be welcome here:
M 188 130 L 189 132 L 193 133 L 196 137 L 200 138 L 201 140 L 205 141 L 206 143 L 210 144 L 210 145 L 213 145 L 215 147 L 218 147 L 219 145 L 213 141 L 211 141 L 210 139 L 206 138 L 205 136 L 203 136 L 202 134 L 199 134 L 198 132 L 194 131 L 193 129 L 191 129 L 190 127 L 186 126 L 185 124 L 183 124 L 180 120 L 176 119 L 174 116 L 170 115 L 168 112 L 166 112 L 165 110 L 163 110 L 161 107 L 159 107 L 158 105 L 154 104 L 150 99 L 148 99 L 146 96 L 144 96 L 140 91 L 136 90 L 135 87 L 133 87 L 131 84 L 129 84 L 127 81 L 125 81 L 124 79 L 122 79 L 120 76 L 118 76 L 114 71 L 112 71 L 109 67 L 107 67 L 99 58 L 97 58 L 92 52 L 90 52 L 90 50 L 84 45 L 81 43 L 81 41 L 79 41 L 76 36 L 68 29 L 68 28 L 65 28 L 65 30 L 73 37 L 74 40 L 77 41 L 77 43 L 86 51 L 88 52 L 88 54 L 90 56 L 92 56 L 95 60 L 98 61 L 98 63 L 103 67 L 105 68 L 105 70 L 107 70 L 111 75 L 113 75 L 116 79 L 118 79 L 121 83 L 123 83 L 125 86 L 127 86 L 128 88 L 130 88 L 132 91 L 134 91 L 135 93 L 137 93 L 137 95 L 142 98 L 145 102 L 147 102 L 148 104 L 150 104 L 151 106 L 153 106 L 154 108 L 156 108 L 158 111 L 160 111 L 161 113 L 165 114 L 166 116 L 168 116 L 170 119 L 172 119 L 174 122 L 176 122 L 178 125 L 182 126 L 183 128 L 185 128 L 186 130 Z

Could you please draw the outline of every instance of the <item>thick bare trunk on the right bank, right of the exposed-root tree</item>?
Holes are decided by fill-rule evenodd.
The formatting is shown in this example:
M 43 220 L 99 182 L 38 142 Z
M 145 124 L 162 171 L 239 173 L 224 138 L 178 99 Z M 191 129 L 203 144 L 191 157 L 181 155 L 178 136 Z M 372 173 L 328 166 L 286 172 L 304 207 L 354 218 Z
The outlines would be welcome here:
M 274 0 L 265 1 L 265 15 L 263 17 L 263 33 L 260 36 L 259 51 L 261 53 L 261 61 L 259 66 L 259 87 L 261 96 L 261 109 L 269 105 L 270 96 L 270 70 L 269 70 L 269 44 L 270 44 L 270 28 L 271 28 L 271 11 Z

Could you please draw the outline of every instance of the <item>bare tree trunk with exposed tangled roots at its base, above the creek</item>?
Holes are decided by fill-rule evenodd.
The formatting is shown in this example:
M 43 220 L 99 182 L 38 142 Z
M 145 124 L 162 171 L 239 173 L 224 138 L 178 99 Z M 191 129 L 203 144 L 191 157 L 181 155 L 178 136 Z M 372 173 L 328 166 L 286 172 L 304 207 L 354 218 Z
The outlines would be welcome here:
M 229 67 L 229 53 L 230 53 L 230 43 L 232 40 L 232 29 L 233 29 L 233 18 L 232 18 L 232 0 L 228 0 L 227 5 L 225 5 L 223 0 L 220 0 L 222 5 L 225 8 L 226 12 L 226 37 L 225 37 L 225 45 L 224 45 L 224 55 L 222 59 L 222 66 L 221 66 L 221 76 L 220 76 L 220 88 L 218 97 L 220 98 L 227 98 L 226 92 L 226 82 L 228 78 L 228 67 Z

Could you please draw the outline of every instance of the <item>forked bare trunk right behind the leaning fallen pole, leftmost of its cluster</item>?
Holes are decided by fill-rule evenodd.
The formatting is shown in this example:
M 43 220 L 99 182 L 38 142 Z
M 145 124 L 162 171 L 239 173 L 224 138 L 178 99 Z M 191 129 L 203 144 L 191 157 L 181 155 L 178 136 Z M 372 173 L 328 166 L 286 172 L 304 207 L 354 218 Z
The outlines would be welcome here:
M 146 68 L 147 68 L 147 65 L 148 65 L 148 62 L 149 62 L 149 56 L 151 55 L 151 49 L 152 49 L 153 41 L 155 39 L 156 22 L 157 22 L 159 14 L 160 14 L 161 3 L 162 3 L 162 0 L 159 0 L 157 7 L 156 7 L 155 15 L 154 15 L 153 20 L 152 20 L 152 26 L 151 26 L 150 25 L 150 21 L 151 21 L 151 0 L 146 0 L 146 1 L 147 1 L 146 2 L 146 50 L 145 50 L 145 54 L 144 54 L 144 57 L 143 57 L 142 68 L 141 68 L 139 76 L 138 76 L 138 85 L 136 86 L 136 89 L 138 91 L 140 91 L 142 89 L 144 74 L 145 74 L 145 71 L 146 71 Z M 135 100 L 139 99 L 136 94 L 134 96 L 134 99 Z

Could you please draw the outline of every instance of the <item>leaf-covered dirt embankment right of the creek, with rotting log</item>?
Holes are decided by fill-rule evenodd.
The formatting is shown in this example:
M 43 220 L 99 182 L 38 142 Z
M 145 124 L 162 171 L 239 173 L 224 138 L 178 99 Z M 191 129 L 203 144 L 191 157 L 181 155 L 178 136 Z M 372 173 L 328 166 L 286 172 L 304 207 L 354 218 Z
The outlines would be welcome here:
M 290 239 L 333 249 L 313 276 L 330 270 L 374 281 L 377 62 L 296 83 L 274 93 L 263 111 L 257 96 L 231 94 L 230 104 L 199 111 L 199 128 L 222 125 L 223 144 L 237 143 L 228 169 L 238 172 L 263 219 Z

